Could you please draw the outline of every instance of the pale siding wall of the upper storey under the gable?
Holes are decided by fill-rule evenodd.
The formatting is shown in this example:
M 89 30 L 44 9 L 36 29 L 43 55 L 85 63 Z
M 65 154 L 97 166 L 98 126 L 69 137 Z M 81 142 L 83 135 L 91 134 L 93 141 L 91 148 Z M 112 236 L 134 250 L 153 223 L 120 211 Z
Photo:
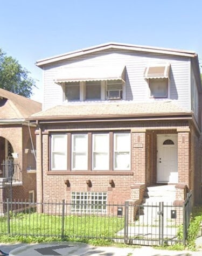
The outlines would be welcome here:
M 145 67 L 149 64 L 170 63 L 170 91 L 168 92 L 168 98 L 177 100 L 180 106 L 190 110 L 190 59 L 188 57 L 124 50 L 101 51 L 73 60 L 61 61 L 59 64 L 52 64 L 51 68 L 50 66 L 45 67 L 44 109 L 60 105 L 63 100 L 62 88 L 54 82 L 58 70 L 63 67 L 101 66 L 106 65 L 106 63 L 109 66 L 126 65 L 123 100 L 131 102 L 162 100 L 150 99 L 149 85 L 143 74 Z M 101 99 L 103 100 L 102 93 Z

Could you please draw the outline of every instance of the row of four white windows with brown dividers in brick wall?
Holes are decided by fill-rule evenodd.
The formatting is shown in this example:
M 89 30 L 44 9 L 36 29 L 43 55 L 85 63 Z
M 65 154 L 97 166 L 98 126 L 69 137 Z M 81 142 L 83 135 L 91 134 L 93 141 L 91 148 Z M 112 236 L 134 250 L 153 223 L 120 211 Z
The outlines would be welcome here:
M 130 133 L 51 134 L 51 171 L 130 170 Z

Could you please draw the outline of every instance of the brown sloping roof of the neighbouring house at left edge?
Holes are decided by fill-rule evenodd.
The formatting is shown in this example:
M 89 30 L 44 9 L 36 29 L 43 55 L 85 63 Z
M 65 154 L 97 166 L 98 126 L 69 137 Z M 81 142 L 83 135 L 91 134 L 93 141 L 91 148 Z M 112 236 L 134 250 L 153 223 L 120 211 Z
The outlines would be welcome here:
M 25 119 L 41 111 L 41 103 L 0 88 L 0 120 Z

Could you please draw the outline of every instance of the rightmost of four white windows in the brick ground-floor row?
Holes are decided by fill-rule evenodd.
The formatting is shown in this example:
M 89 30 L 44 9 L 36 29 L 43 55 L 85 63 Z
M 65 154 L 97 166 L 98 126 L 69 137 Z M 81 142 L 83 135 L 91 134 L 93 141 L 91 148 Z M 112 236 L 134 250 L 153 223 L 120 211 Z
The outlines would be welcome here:
M 114 134 L 114 170 L 130 169 L 130 134 Z

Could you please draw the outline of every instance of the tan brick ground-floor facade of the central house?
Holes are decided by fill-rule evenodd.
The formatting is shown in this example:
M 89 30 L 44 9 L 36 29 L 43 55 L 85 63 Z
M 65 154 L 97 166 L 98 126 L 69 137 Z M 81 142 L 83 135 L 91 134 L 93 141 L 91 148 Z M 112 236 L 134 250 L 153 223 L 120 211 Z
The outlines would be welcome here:
M 90 123 L 41 124 L 37 136 L 37 199 L 71 201 L 71 192 L 107 192 L 108 203 L 123 203 L 133 200 L 141 203 L 144 189 L 157 182 L 157 134 L 177 134 L 178 138 L 178 182 L 192 190 L 199 202 L 198 186 L 201 180 L 200 162 L 196 164 L 200 143 L 197 132 L 191 129 L 188 121 L 124 121 Z M 49 134 L 51 132 L 89 132 L 89 131 L 130 131 L 131 132 L 131 170 L 99 173 L 97 171 L 54 172 L 49 169 Z M 194 150 L 192 150 L 194 149 Z M 198 158 L 197 158 L 198 159 Z M 90 180 L 92 186 L 88 186 Z M 110 184 L 113 180 L 114 185 Z M 197 183 L 198 182 L 198 183 Z M 176 200 L 184 200 L 184 187 L 178 186 Z

